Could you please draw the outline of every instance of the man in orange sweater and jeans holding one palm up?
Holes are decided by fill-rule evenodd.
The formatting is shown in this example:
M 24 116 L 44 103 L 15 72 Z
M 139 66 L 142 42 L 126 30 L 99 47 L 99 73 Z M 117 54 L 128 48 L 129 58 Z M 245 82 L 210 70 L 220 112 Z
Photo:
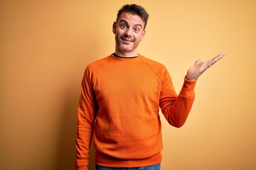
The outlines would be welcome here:
M 148 17 L 142 6 L 123 6 L 112 26 L 115 52 L 85 69 L 78 106 L 77 169 L 87 169 L 93 137 L 97 170 L 159 170 L 159 108 L 171 125 L 181 127 L 191 110 L 196 80 L 224 57 L 196 61 L 177 95 L 166 67 L 137 53 Z

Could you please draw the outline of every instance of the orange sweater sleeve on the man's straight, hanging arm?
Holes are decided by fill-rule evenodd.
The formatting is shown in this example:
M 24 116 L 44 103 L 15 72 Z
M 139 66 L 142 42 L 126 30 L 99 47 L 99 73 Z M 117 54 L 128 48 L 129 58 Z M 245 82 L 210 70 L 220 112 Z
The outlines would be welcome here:
M 96 114 L 95 95 L 92 91 L 92 73 L 85 69 L 82 79 L 80 100 L 78 104 L 78 127 L 76 137 L 76 169 L 87 170 L 89 150 Z

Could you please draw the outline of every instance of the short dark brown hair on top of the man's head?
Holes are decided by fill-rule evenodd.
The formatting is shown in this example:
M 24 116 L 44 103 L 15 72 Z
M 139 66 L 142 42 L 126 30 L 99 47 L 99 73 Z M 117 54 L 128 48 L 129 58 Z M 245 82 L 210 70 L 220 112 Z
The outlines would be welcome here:
M 142 20 L 144 21 L 144 29 L 146 28 L 146 23 L 149 19 L 149 13 L 147 13 L 146 10 L 142 6 L 139 6 L 137 4 L 126 4 L 126 5 L 122 6 L 122 8 L 120 8 L 117 13 L 117 21 L 122 12 L 132 13 L 132 14 L 140 16 L 142 18 Z

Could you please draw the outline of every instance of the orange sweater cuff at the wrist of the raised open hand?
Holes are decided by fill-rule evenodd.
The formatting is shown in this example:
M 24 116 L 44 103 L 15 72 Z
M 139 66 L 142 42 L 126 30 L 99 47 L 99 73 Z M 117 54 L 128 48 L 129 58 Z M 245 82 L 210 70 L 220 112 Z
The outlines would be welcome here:
M 195 96 L 195 93 L 194 93 L 195 86 L 196 86 L 196 80 L 195 81 L 189 81 L 185 77 L 184 78 L 184 83 L 183 83 L 183 86 L 182 86 L 182 89 L 181 89 L 181 92 L 180 92 L 181 96 L 184 96 L 184 97 L 193 97 L 193 96 Z

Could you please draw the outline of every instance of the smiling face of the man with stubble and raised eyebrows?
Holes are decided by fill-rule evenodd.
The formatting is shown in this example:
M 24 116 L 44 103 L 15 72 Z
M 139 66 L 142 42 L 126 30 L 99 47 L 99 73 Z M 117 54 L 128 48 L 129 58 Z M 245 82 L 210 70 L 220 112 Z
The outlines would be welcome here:
M 136 51 L 139 42 L 143 40 L 146 30 L 140 16 L 123 12 L 113 24 L 116 48 L 119 52 Z

